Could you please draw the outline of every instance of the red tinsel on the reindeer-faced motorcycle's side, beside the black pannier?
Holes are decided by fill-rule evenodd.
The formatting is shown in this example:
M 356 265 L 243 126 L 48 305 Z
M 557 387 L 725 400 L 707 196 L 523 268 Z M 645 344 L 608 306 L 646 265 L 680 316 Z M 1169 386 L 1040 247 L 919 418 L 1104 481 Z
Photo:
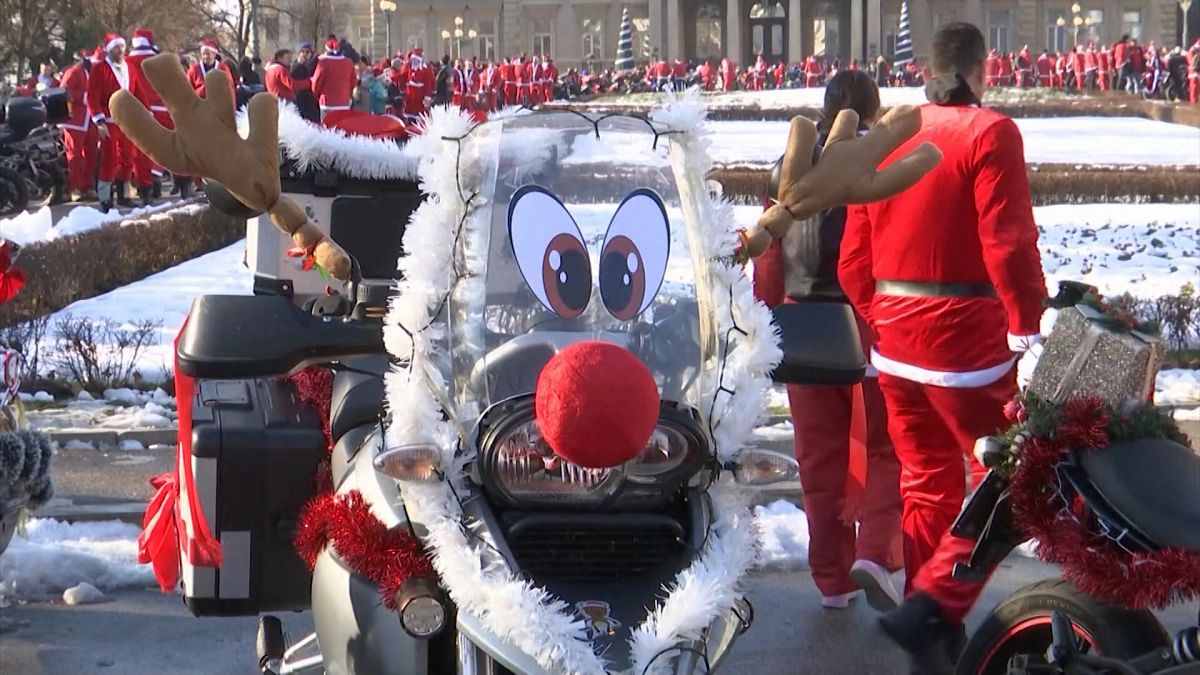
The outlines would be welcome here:
M 290 376 L 288 383 L 295 389 L 296 398 L 320 416 L 326 452 L 331 452 L 329 417 L 334 374 L 329 369 L 310 368 Z M 379 586 L 388 609 L 395 609 L 396 592 L 407 579 L 436 578 L 421 542 L 409 531 L 389 530 L 371 513 L 370 504 L 358 490 L 334 494 L 328 461 L 322 464 L 316 479 L 316 496 L 300 512 L 293 539 L 296 554 L 310 569 L 317 563 L 320 551 L 332 545 L 355 574 Z

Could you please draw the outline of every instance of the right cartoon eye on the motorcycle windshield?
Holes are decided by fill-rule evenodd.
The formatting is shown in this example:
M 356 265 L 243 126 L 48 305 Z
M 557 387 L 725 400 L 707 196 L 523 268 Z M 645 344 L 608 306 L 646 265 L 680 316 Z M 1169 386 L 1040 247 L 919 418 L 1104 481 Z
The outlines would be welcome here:
M 631 192 L 617 208 L 600 250 L 600 297 L 608 313 L 629 321 L 659 294 L 671 256 L 671 228 L 662 199 Z

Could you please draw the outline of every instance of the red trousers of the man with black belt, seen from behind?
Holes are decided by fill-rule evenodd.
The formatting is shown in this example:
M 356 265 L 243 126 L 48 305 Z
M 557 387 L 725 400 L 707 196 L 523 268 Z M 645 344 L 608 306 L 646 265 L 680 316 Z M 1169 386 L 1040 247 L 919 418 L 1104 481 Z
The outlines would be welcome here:
M 986 387 L 971 389 L 882 374 L 880 389 L 900 459 L 905 591 L 929 595 L 947 620 L 961 621 L 984 587 L 952 575 L 954 563 L 966 562 L 974 546 L 949 533 L 966 497 L 964 460 L 974 488 L 986 472 L 972 453 L 974 441 L 1008 425 L 1004 404 L 1016 395 L 1016 369 Z

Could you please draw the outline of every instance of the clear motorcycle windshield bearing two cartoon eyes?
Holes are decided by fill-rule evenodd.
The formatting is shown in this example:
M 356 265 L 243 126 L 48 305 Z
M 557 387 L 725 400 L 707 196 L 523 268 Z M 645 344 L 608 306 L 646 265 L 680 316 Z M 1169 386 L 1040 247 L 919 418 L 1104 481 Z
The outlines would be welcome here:
M 475 135 L 491 195 L 461 243 L 486 253 L 482 282 L 460 277 L 450 298 L 460 420 L 532 394 L 558 351 L 587 340 L 625 347 L 662 400 L 696 406 L 701 310 L 667 136 L 637 118 L 574 113 Z

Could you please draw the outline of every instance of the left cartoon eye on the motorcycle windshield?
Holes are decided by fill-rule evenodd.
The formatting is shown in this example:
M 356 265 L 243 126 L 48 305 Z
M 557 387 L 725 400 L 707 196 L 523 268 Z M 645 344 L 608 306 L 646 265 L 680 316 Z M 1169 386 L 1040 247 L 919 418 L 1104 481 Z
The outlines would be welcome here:
M 563 318 L 583 313 L 592 298 L 592 258 L 566 207 L 542 187 L 517 190 L 509 202 L 509 241 L 526 285 Z

